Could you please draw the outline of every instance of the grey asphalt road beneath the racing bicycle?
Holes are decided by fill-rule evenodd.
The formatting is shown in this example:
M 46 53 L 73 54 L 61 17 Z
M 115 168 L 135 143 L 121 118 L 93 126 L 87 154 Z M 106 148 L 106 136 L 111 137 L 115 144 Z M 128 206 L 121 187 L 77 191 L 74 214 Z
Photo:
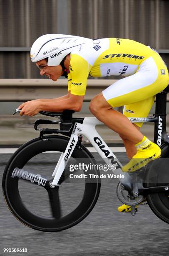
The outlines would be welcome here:
M 45 154 L 33 161 L 29 168 L 46 172 L 54 162 L 52 154 Z M 94 153 L 96 156 L 96 154 Z M 125 153 L 116 153 L 122 163 Z M 11 154 L 0 154 L 0 180 Z M 47 159 L 46 159 L 47 157 Z M 52 168 L 52 166 L 51 166 Z M 92 212 L 78 225 L 61 232 L 40 232 L 20 223 L 5 205 L 2 189 L 0 197 L 0 255 L 59 255 L 59 256 L 121 256 L 121 255 L 168 255 L 169 225 L 159 220 L 148 205 L 139 206 L 136 216 L 120 213 L 121 205 L 116 196 L 117 180 L 102 182 L 97 204 Z M 35 186 L 37 187 L 37 186 Z M 40 194 L 25 190 L 25 200 L 34 207 Z M 75 198 L 76 193 L 71 193 Z M 31 200 L 28 200 L 31 199 Z M 34 203 L 35 202 L 35 205 Z M 66 209 L 66 208 L 65 208 Z M 42 205 L 42 212 L 47 209 Z M 27 248 L 25 253 L 4 253 L 3 248 Z

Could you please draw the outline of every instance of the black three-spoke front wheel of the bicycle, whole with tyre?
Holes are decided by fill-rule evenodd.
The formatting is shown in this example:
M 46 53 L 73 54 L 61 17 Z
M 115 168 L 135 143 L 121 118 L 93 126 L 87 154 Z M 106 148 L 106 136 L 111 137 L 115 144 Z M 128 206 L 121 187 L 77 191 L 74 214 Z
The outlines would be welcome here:
M 48 140 L 36 138 L 25 143 L 12 155 L 3 174 L 3 195 L 8 208 L 21 223 L 36 230 L 60 231 L 76 225 L 91 212 L 99 197 L 100 179 L 94 179 L 93 183 L 86 179 L 72 183 L 62 174 L 61 186 L 51 188 L 49 181 L 69 138 L 44 138 Z M 49 151 L 52 152 L 49 154 Z M 70 161 L 76 163 L 77 159 L 89 159 L 96 164 L 84 146 L 82 150 L 73 151 Z M 15 175 L 16 168 L 22 169 L 22 175 Z M 83 171 L 77 170 L 76 174 Z M 92 170 L 92 174 L 99 177 L 98 170 Z

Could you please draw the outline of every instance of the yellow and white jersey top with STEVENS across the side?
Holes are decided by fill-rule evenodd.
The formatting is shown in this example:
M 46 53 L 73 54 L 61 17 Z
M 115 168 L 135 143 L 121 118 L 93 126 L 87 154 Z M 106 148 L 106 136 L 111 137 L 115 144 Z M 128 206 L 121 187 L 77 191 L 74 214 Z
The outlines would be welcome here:
M 157 54 L 149 46 L 122 38 L 102 38 L 82 44 L 70 54 L 68 90 L 73 95 L 85 95 L 88 76 L 130 76 L 145 59 Z

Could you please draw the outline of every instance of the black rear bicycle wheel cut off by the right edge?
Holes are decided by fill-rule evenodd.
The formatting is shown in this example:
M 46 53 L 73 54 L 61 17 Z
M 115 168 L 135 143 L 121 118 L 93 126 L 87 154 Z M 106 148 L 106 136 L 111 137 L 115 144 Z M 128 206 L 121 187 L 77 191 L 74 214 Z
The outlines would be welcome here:
M 151 167 L 145 171 L 145 186 L 169 187 L 169 144 L 162 146 L 161 158 L 155 160 Z M 147 203 L 158 218 L 169 223 L 169 190 L 167 192 L 159 192 L 147 194 Z

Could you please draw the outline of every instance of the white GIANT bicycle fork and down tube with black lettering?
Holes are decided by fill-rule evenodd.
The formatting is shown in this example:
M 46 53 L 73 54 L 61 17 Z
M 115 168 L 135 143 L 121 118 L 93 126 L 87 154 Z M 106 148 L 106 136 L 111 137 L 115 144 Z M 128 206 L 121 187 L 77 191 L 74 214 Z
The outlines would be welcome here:
M 131 120 L 132 123 L 147 121 L 149 122 L 149 119 L 150 118 L 129 118 L 129 120 Z M 55 167 L 55 170 L 52 174 L 52 177 L 55 176 L 51 184 L 52 187 L 59 186 L 58 182 L 60 180 L 62 173 L 64 172 L 65 166 L 68 163 L 70 156 L 72 155 L 73 150 L 75 149 L 75 146 L 78 142 L 78 137 L 79 135 L 84 135 L 85 137 L 87 137 L 92 146 L 96 149 L 96 151 L 105 161 L 105 163 L 112 164 L 114 167 L 116 167 L 116 169 L 112 169 L 112 172 L 115 175 L 119 175 L 119 177 L 124 177 L 119 178 L 119 181 L 122 184 L 125 184 L 125 186 L 128 187 L 129 189 L 132 189 L 132 177 L 128 173 L 122 172 L 122 164 L 112 153 L 112 151 L 103 141 L 101 136 L 99 136 L 99 133 L 97 133 L 95 129 L 96 125 L 103 125 L 103 123 L 97 120 L 97 118 L 84 118 L 83 123 L 75 123 L 65 153 L 61 154 L 57 166 Z

